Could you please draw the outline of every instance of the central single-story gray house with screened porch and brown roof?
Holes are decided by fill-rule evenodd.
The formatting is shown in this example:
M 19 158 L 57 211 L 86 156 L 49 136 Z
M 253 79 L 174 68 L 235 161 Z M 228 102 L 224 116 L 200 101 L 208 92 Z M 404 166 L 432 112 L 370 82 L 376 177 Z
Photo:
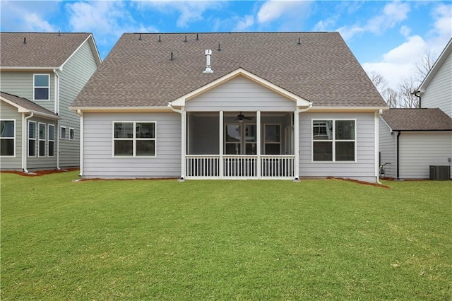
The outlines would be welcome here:
M 83 178 L 367 182 L 386 108 L 339 33 L 126 33 L 71 105 Z

